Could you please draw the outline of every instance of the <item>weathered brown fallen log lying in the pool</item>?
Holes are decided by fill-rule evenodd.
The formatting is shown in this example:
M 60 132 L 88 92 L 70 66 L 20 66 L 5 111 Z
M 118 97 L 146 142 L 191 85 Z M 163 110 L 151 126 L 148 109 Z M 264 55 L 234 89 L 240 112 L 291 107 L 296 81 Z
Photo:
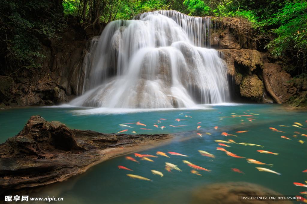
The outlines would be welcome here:
M 32 116 L 18 135 L 0 144 L 0 195 L 12 188 L 63 181 L 108 158 L 170 137 L 71 130 L 60 122 Z

